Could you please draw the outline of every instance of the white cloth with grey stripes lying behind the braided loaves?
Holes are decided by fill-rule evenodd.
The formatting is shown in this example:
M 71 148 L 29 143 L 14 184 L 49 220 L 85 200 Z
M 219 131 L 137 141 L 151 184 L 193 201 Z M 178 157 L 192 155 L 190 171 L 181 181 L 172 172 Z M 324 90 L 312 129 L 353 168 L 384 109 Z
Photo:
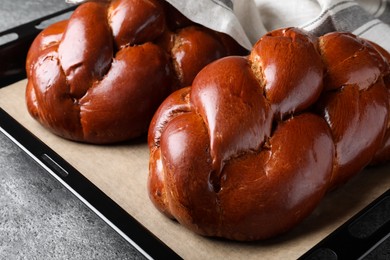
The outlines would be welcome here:
M 80 3 L 85 0 L 65 0 Z M 166 0 L 194 22 L 251 49 L 267 31 L 352 32 L 390 52 L 390 0 Z

